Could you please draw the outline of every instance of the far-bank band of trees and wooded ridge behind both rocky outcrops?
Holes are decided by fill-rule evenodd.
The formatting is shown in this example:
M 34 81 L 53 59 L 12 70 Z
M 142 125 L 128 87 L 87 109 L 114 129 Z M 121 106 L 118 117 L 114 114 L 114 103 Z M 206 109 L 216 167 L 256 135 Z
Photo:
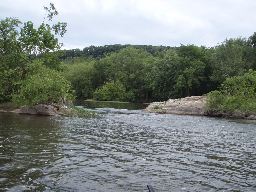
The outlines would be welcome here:
M 64 56 L 63 75 L 79 99 L 163 101 L 209 93 L 226 78 L 255 70 L 256 33 L 212 48 L 108 45 Z

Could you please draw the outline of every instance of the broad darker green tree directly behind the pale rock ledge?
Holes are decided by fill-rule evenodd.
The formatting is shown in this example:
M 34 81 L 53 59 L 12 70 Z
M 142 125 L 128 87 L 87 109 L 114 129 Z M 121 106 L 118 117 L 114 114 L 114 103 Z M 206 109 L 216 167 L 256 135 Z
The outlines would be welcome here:
M 151 71 L 152 95 L 157 100 L 202 95 L 204 55 L 202 49 L 181 45 L 158 54 Z

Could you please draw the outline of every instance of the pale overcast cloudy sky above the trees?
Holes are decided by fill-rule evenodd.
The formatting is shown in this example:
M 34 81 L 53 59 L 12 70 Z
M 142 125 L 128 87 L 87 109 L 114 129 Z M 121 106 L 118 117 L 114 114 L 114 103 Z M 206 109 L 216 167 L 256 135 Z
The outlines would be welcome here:
M 43 6 L 67 22 L 65 49 L 111 44 L 212 47 L 256 32 L 255 0 L 1 0 L 0 19 L 18 17 L 39 26 Z

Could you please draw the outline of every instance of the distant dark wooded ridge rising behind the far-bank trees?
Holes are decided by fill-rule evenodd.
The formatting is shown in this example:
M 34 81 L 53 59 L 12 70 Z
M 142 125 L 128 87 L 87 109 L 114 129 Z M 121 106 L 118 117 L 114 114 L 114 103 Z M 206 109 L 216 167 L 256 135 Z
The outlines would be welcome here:
M 169 49 L 173 49 L 173 47 L 170 46 L 152 46 L 152 45 L 105 45 L 105 46 L 90 46 L 85 47 L 83 50 L 81 49 L 71 49 L 66 50 L 66 53 L 63 56 L 60 56 L 60 59 L 67 59 L 68 57 L 91 57 L 93 59 L 102 59 L 105 57 L 106 54 L 110 54 L 113 52 L 119 52 L 120 50 L 127 48 L 127 47 L 133 47 L 135 49 L 143 49 L 144 51 L 151 53 L 153 56 L 156 55 L 158 52 L 166 51 Z

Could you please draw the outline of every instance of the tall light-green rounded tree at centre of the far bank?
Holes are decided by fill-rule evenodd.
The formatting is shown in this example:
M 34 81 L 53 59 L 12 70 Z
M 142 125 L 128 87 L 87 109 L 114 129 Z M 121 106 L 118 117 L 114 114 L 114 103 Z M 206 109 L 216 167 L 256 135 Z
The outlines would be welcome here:
M 143 98 L 148 92 L 146 89 L 146 69 L 152 66 L 154 58 L 143 49 L 131 46 L 109 56 L 110 61 L 108 78 L 121 81 L 126 90 L 135 96 Z

